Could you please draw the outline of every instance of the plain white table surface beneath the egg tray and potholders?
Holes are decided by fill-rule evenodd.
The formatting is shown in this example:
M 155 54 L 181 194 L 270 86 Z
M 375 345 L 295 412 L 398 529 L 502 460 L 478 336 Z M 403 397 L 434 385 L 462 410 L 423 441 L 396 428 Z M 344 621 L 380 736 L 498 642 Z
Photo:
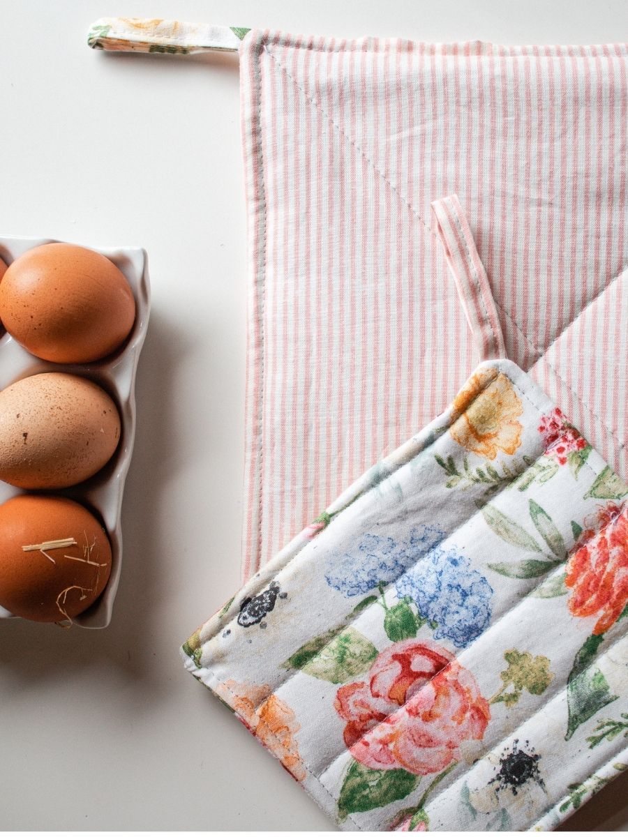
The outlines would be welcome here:
M 178 645 L 238 586 L 245 205 L 238 60 L 87 48 L 102 16 L 446 41 L 605 43 L 625 0 L 2 3 L 0 232 L 149 254 L 111 626 L 0 623 L 3 829 L 332 830 Z M 628 830 L 628 777 L 569 821 Z

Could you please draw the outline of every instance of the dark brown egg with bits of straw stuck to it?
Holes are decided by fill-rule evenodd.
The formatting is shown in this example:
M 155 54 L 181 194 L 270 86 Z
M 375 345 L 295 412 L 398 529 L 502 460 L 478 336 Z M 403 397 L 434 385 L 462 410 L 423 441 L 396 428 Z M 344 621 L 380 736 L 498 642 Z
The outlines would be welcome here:
M 23 495 L 0 506 L 0 605 L 35 622 L 63 622 L 104 590 L 111 546 L 99 521 L 64 497 Z

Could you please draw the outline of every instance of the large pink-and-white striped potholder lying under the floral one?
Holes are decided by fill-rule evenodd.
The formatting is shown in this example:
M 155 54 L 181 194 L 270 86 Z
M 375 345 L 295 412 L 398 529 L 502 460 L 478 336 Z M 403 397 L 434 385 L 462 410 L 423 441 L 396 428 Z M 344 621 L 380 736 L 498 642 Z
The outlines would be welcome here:
M 439 236 L 475 241 L 505 354 L 628 478 L 626 45 L 253 31 L 240 54 L 245 578 L 491 354 Z M 450 193 L 458 239 L 430 211 Z

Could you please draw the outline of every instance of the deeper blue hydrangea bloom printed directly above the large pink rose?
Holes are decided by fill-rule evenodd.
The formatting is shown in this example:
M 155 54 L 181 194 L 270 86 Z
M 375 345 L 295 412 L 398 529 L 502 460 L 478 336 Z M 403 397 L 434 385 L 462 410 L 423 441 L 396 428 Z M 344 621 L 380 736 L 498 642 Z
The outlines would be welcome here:
M 434 549 L 399 578 L 396 590 L 437 625 L 435 639 L 449 639 L 457 648 L 476 639 L 491 621 L 491 585 L 453 548 Z

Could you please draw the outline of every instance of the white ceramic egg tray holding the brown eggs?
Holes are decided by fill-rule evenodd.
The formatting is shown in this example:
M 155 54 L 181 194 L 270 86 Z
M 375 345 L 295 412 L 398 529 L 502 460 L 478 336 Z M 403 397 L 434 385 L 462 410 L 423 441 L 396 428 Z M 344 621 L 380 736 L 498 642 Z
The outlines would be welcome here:
M 18 256 L 39 244 L 52 244 L 54 239 L 7 239 L 0 237 L 0 258 L 11 264 Z M 76 244 L 76 242 L 72 242 Z M 87 246 L 87 245 L 81 245 Z M 137 362 L 146 336 L 150 311 L 150 284 L 146 251 L 140 248 L 100 249 L 90 247 L 111 259 L 131 285 L 135 296 L 136 319 L 123 346 L 101 361 L 92 363 L 50 363 L 33 357 L 2 328 L 0 330 L 0 389 L 38 372 L 70 372 L 82 375 L 99 384 L 116 402 L 121 417 L 121 439 L 116 453 L 105 467 L 90 480 L 71 488 L 49 492 L 66 496 L 82 503 L 100 518 L 111 541 L 111 577 L 100 598 L 73 619 L 81 628 L 106 628 L 120 581 L 122 563 L 121 506 L 126 473 L 131 463 L 135 438 L 136 405 L 135 377 Z M 9 497 L 23 494 L 0 481 L 0 503 Z M 0 619 L 15 617 L 0 608 Z

